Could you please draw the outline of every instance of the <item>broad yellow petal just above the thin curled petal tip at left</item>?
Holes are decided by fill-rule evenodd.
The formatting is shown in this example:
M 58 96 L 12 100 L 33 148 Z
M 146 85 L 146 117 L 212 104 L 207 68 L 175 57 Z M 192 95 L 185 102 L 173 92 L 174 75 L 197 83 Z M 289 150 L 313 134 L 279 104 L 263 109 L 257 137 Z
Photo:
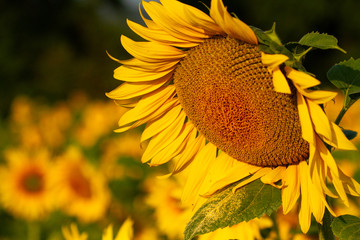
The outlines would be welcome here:
M 185 57 L 185 53 L 177 48 L 157 42 L 135 42 L 124 35 L 121 44 L 125 50 L 144 62 L 176 61 Z

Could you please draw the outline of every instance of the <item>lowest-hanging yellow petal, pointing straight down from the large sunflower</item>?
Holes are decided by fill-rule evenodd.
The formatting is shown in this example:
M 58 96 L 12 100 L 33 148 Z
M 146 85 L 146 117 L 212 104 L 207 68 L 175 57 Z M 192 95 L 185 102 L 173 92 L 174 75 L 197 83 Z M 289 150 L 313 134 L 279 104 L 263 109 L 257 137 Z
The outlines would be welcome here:
M 308 166 L 305 161 L 302 161 L 298 165 L 300 172 L 300 189 L 301 189 L 301 206 L 299 212 L 299 223 L 303 233 L 307 233 L 311 224 L 311 209 L 310 209 L 310 197 L 308 181 Z

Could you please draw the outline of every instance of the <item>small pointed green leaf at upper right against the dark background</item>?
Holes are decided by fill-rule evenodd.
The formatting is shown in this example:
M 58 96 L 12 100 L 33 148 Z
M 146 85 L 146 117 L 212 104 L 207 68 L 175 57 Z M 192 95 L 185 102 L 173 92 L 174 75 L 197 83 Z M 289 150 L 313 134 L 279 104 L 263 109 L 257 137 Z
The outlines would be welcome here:
M 319 48 L 323 50 L 337 49 L 343 53 L 346 53 L 346 51 L 340 48 L 337 43 L 338 40 L 334 36 L 318 32 L 308 33 L 304 35 L 299 41 L 299 44 L 304 46 Z

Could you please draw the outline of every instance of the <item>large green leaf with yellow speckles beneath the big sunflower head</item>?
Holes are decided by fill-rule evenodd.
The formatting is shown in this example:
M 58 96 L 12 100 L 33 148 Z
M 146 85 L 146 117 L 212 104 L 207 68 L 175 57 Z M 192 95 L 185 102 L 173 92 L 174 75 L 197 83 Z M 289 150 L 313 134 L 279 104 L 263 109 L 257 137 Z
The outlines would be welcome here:
M 281 206 L 281 191 L 259 179 L 234 193 L 235 185 L 210 197 L 200 207 L 185 229 L 185 240 L 264 214 L 270 215 Z

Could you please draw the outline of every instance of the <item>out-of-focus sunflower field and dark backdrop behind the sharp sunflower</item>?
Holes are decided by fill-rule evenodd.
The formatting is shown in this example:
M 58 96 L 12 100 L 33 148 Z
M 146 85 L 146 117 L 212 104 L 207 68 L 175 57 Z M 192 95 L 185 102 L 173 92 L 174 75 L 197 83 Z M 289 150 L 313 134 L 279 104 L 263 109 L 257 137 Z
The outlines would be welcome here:
M 112 76 L 118 63 L 106 51 L 118 59 L 130 57 L 120 36 L 140 39 L 126 25 L 127 18 L 141 22 L 139 2 L 0 0 L 0 191 L 6 192 L 0 204 L 0 240 L 63 239 L 61 228 L 72 222 L 88 232 L 89 239 L 100 239 L 108 224 L 118 229 L 129 216 L 135 221 L 137 239 L 181 239 L 183 225 L 169 232 L 163 226 L 169 219 L 159 220 L 183 212 L 171 208 L 177 193 L 157 192 L 170 193 L 177 183 L 149 182 L 166 173 L 166 166 L 154 169 L 140 163 L 139 132 L 113 132 L 124 110 L 105 96 L 120 84 Z M 210 0 L 183 2 L 205 12 L 205 5 L 210 5 Z M 360 57 L 360 1 L 224 0 L 224 4 L 245 23 L 263 30 L 276 22 L 283 43 L 312 31 L 334 35 L 347 54 L 313 51 L 304 63 L 320 80 L 335 63 Z M 341 101 L 326 106 L 330 118 L 336 118 Z M 342 126 L 359 131 L 359 109 L 354 105 Z M 335 156 L 359 179 L 358 153 Z M 11 181 L 23 178 L 26 186 L 11 188 Z M 54 193 L 45 194 L 48 182 L 61 193 L 56 203 L 48 200 Z M 24 193 L 22 187 L 32 192 Z M 46 196 L 31 203 L 26 197 L 37 190 Z M 159 213 L 156 203 L 169 206 L 169 212 L 165 208 Z M 357 205 L 354 200 L 353 214 L 359 212 Z

